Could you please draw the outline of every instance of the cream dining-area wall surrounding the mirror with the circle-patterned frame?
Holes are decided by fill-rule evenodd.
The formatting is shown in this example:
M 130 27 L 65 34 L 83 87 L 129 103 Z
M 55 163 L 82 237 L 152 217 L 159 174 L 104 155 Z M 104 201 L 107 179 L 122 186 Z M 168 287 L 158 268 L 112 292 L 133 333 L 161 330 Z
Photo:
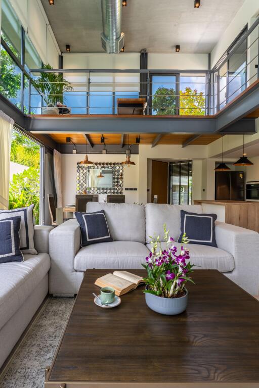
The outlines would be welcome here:
M 76 163 L 80 162 L 84 158 L 84 155 L 67 155 L 63 154 L 61 156 L 61 171 L 62 171 L 62 196 L 63 204 L 73 204 L 75 203 L 76 195 Z M 93 162 L 114 162 L 120 163 L 125 160 L 124 155 L 115 155 L 115 154 L 106 154 L 106 155 L 89 155 L 89 160 Z M 138 187 L 139 179 L 139 156 L 132 155 L 131 160 L 136 163 L 136 166 L 124 167 L 123 171 L 123 188 L 125 187 Z M 123 190 L 125 195 L 125 202 L 133 203 L 138 202 L 138 191 L 128 191 Z

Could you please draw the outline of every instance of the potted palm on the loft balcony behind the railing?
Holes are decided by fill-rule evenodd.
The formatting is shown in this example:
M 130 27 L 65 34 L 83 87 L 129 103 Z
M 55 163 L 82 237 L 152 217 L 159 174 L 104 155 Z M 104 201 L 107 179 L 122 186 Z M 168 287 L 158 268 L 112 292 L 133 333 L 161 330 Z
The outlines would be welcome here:
M 52 70 L 53 67 L 49 64 L 43 65 L 42 69 Z M 57 115 L 59 109 L 56 107 L 57 102 L 63 104 L 64 91 L 71 91 L 73 87 L 61 73 L 40 73 L 37 79 L 31 79 L 31 84 L 42 96 L 46 103 L 46 107 L 42 108 L 42 115 Z

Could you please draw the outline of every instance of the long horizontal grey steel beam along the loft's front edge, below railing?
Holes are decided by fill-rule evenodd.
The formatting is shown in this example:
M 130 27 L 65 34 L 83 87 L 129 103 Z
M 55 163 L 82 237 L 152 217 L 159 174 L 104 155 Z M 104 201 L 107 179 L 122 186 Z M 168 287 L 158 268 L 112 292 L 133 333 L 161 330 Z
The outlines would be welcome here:
M 213 117 L 29 117 L 27 128 L 30 131 L 83 132 L 89 133 L 214 133 L 217 120 Z M 105 128 L 105 130 L 104 130 Z

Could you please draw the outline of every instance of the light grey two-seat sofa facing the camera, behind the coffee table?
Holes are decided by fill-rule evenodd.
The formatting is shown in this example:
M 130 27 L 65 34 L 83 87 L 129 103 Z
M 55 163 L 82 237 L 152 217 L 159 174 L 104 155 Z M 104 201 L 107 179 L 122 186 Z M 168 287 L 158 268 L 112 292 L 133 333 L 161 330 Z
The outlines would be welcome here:
M 50 232 L 51 269 L 49 292 L 69 296 L 77 293 L 88 268 L 142 268 L 151 249 L 150 237 L 163 236 L 163 223 L 170 235 L 180 235 L 180 210 L 203 213 L 200 205 L 105 204 L 89 202 L 88 212 L 104 210 L 114 241 L 80 248 L 80 228 L 75 219 Z M 258 295 L 259 234 L 216 222 L 218 248 L 189 244 L 191 261 L 203 269 L 217 269 L 248 293 Z M 180 244 L 176 243 L 177 246 Z

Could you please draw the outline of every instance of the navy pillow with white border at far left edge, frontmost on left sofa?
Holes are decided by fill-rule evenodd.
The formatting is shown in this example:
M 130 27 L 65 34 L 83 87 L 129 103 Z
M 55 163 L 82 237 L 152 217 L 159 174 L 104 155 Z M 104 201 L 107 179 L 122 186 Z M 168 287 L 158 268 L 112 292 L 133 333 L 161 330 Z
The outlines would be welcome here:
M 0 263 L 23 261 L 19 230 L 21 216 L 0 220 Z

